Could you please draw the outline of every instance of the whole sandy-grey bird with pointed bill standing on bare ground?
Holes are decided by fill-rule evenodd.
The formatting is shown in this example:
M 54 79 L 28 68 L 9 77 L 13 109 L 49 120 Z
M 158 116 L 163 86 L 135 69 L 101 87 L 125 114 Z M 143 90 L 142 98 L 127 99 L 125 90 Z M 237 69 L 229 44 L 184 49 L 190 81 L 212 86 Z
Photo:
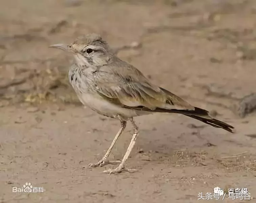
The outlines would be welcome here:
M 80 102 L 100 115 L 120 121 L 120 129 L 103 158 L 88 167 L 119 164 L 105 173 L 135 172 L 126 168 L 126 161 L 138 136 L 134 117 L 153 113 L 176 113 L 194 118 L 216 128 L 234 133 L 234 127 L 212 118 L 209 111 L 194 107 L 169 90 L 149 81 L 133 65 L 121 60 L 100 34 L 90 33 L 76 38 L 71 44 L 54 44 L 74 56 L 68 79 Z M 132 124 L 133 133 L 122 161 L 108 161 L 108 156 L 126 128 Z

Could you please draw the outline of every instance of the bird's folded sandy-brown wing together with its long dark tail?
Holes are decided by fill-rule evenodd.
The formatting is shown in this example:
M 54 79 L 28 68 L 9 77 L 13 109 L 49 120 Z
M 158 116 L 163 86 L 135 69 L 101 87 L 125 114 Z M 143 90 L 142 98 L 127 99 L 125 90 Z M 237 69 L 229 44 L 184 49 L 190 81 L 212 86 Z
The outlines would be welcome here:
M 96 71 L 92 91 L 123 108 L 183 114 L 233 133 L 233 126 L 213 119 L 207 110 L 193 107 L 168 90 L 151 84 L 137 69 L 126 73 Z

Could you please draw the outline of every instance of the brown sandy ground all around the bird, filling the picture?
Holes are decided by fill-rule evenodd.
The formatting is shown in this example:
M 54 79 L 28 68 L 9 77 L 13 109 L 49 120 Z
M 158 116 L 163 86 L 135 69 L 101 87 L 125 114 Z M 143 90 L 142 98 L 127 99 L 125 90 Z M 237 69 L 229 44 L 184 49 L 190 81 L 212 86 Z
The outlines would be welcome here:
M 247 188 L 255 201 L 256 117 L 242 99 L 255 91 L 255 1 L 12 0 L 0 10 L 1 203 L 244 202 L 198 200 L 217 186 Z M 154 84 L 236 132 L 182 115 L 142 116 L 127 162 L 137 172 L 88 169 L 119 121 L 77 102 L 66 83 L 72 58 L 48 46 L 89 32 L 101 33 Z M 130 130 L 109 160 L 122 159 Z M 26 182 L 44 192 L 12 192 Z

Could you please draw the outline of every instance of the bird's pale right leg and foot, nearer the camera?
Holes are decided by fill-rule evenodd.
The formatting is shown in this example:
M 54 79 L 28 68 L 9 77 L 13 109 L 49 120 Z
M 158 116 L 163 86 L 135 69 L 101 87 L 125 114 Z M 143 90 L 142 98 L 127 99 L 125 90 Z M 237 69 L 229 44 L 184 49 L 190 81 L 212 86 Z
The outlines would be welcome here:
M 123 160 L 121 162 L 121 164 L 115 168 L 115 169 L 109 169 L 109 170 L 105 170 L 103 171 L 104 173 L 119 173 L 119 172 L 122 172 L 122 171 L 128 171 L 128 172 L 134 172 L 134 171 L 137 171 L 136 169 L 127 169 L 125 168 L 125 162 L 126 160 L 128 159 L 130 153 L 131 153 L 131 150 L 135 144 L 135 140 L 137 138 L 137 135 L 138 135 L 138 126 L 135 124 L 134 120 L 132 118 L 130 118 L 130 121 L 132 123 L 132 126 L 133 126 L 133 134 L 132 134 L 132 138 L 131 138 L 131 142 L 127 148 L 127 151 L 123 157 Z

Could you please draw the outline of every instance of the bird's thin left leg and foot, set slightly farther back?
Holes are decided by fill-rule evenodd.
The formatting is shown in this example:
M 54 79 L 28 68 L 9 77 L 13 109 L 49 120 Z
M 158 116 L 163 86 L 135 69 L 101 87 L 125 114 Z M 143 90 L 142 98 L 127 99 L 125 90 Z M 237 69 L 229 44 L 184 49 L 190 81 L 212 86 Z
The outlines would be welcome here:
M 107 160 L 115 142 L 118 140 L 119 136 L 123 133 L 123 131 L 126 127 L 126 123 L 127 123 L 126 121 L 120 120 L 120 122 L 121 122 L 121 127 L 120 127 L 118 133 L 116 134 L 113 142 L 111 143 L 109 149 L 107 150 L 106 154 L 103 156 L 103 158 L 98 163 L 89 164 L 88 167 L 97 167 L 97 166 L 102 167 L 102 166 L 107 165 L 107 164 L 118 164 L 118 163 L 120 163 L 120 161 L 108 161 Z

